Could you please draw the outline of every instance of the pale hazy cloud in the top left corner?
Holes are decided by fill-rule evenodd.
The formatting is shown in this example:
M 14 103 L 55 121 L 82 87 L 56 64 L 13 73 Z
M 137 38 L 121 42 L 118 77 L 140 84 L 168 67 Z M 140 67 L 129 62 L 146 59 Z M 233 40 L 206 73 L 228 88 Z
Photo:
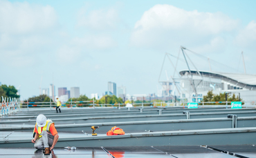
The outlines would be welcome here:
M 37 32 L 56 26 L 57 15 L 51 6 L 28 2 L 0 1 L 0 30 L 10 34 Z

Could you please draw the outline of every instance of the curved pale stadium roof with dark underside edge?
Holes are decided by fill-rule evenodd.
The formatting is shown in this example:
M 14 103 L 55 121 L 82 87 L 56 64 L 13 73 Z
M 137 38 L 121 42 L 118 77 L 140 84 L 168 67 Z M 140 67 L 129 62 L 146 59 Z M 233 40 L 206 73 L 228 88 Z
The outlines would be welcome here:
M 182 70 L 179 72 L 181 76 L 185 75 L 185 73 L 189 70 Z M 192 75 L 199 75 L 196 70 L 190 71 Z M 226 72 L 207 72 L 207 71 L 199 71 L 203 77 L 211 77 L 215 79 L 223 79 L 229 83 L 240 86 L 242 88 L 246 88 L 249 90 L 256 90 L 256 75 L 248 75 L 248 74 L 237 74 L 237 73 L 226 73 Z

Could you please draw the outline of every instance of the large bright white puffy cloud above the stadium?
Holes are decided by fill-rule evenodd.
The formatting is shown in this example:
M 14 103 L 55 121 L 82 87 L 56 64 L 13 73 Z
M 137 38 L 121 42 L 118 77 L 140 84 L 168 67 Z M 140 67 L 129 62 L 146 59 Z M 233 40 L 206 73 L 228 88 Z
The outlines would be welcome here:
M 223 38 L 223 32 L 237 29 L 238 23 L 221 12 L 186 11 L 170 5 L 156 5 L 136 22 L 131 44 L 160 48 L 203 41 L 203 44 L 217 46 L 214 39 Z

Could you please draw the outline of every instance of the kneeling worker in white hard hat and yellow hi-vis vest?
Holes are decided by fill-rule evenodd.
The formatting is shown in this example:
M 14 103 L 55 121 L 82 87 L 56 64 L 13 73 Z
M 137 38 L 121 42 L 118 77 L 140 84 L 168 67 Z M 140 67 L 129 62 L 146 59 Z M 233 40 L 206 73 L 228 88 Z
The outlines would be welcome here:
M 53 121 L 51 119 L 46 120 L 42 114 L 37 116 L 33 136 L 34 139 L 31 141 L 35 144 L 35 148 L 45 149 L 45 155 L 50 154 L 50 150 L 53 150 L 59 138 Z

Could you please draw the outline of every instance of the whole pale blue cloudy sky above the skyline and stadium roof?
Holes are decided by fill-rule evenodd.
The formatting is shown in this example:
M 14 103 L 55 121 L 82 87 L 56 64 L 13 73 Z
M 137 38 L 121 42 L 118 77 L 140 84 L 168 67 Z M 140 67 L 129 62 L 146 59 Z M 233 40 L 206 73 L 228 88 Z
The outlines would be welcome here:
M 129 94 L 149 94 L 157 91 L 165 52 L 177 56 L 180 46 L 199 54 L 187 52 L 201 70 L 209 67 L 200 56 L 209 57 L 213 71 L 244 73 L 244 51 L 247 73 L 256 74 L 255 6 L 234 0 L 0 0 L 0 81 L 19 87 L 21 99 L 50 83 L 79 86 L 90 96 L 113 81 Z M 164 69 L 172 74 L 171 66 Z

